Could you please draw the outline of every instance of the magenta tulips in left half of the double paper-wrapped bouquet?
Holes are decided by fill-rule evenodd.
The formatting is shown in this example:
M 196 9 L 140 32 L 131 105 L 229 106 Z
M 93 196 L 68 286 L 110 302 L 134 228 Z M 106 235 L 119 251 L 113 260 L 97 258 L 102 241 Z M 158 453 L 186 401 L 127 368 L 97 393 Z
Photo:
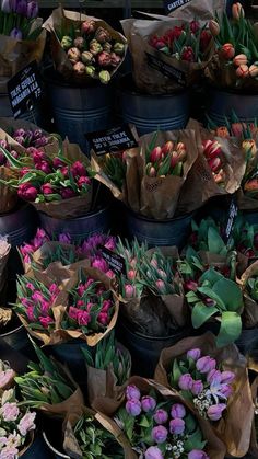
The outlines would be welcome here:
M 15 310 L 28 323 L 30 329 L 51 331 L 55 326 L 52 306 L 59 292 L 55 283 L 46 287 L 39 280 L 20 276 Z

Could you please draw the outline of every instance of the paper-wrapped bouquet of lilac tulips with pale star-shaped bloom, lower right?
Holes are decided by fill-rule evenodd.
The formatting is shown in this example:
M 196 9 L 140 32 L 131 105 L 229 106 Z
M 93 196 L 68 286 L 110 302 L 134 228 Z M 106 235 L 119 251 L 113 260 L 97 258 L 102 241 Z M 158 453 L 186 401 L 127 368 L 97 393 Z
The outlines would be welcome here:
M 209 420 L 227 454 L 247 452 L 254 405 L 247 362 L 234 344 L 218 348 L 211 333 L 181 340 L 162 351 L 154 379 Z

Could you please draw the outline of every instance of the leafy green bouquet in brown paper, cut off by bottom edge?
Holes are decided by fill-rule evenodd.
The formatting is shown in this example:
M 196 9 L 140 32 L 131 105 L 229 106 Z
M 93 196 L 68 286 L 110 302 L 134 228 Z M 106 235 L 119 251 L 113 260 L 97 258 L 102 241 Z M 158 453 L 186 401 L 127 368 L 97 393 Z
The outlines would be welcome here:
M 83 413 L 70 413 L 63 424 L 63 449 L 71 458 L 92 457 L 137 459 L 117 424 L 105 414 L 83 406 Z

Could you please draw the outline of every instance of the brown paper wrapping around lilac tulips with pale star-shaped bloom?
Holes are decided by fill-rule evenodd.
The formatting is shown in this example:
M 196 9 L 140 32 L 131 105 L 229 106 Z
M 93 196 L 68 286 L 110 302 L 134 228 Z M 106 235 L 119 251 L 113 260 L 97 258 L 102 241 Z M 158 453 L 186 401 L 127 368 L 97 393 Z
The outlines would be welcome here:
M 254 405 L 247 375 L 247 362 L 234 344 L 216 348 L 215 336 L 208 332 L 201 336 L 187 337 L 172 347 L 162 351 L 155 369 L 154 379 L 169 388 L 167 371 L 173 359 L 185 355 L 187 351 L 199 347 L 202 355 L 210 355 L 222 364 L 224 370 L 236 375 L 233 382 L 234 393 L 228 400 L 226 415 L 211 428 L 226 445 L 227 454 L 243 457 L 248 451 Z M 189 402 L 188 402 L 189 403 Z

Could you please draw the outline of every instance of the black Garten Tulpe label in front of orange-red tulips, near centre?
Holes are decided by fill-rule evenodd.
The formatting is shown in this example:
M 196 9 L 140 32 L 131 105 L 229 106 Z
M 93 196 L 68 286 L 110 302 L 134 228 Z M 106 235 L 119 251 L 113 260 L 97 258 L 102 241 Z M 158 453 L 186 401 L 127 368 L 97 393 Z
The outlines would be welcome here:
M 97 156 L 118 153 L 129 148 L 138 147 L 138 144 L 127 125 L 116 126 L 108 130 L 98 130 L 85 135 Z

